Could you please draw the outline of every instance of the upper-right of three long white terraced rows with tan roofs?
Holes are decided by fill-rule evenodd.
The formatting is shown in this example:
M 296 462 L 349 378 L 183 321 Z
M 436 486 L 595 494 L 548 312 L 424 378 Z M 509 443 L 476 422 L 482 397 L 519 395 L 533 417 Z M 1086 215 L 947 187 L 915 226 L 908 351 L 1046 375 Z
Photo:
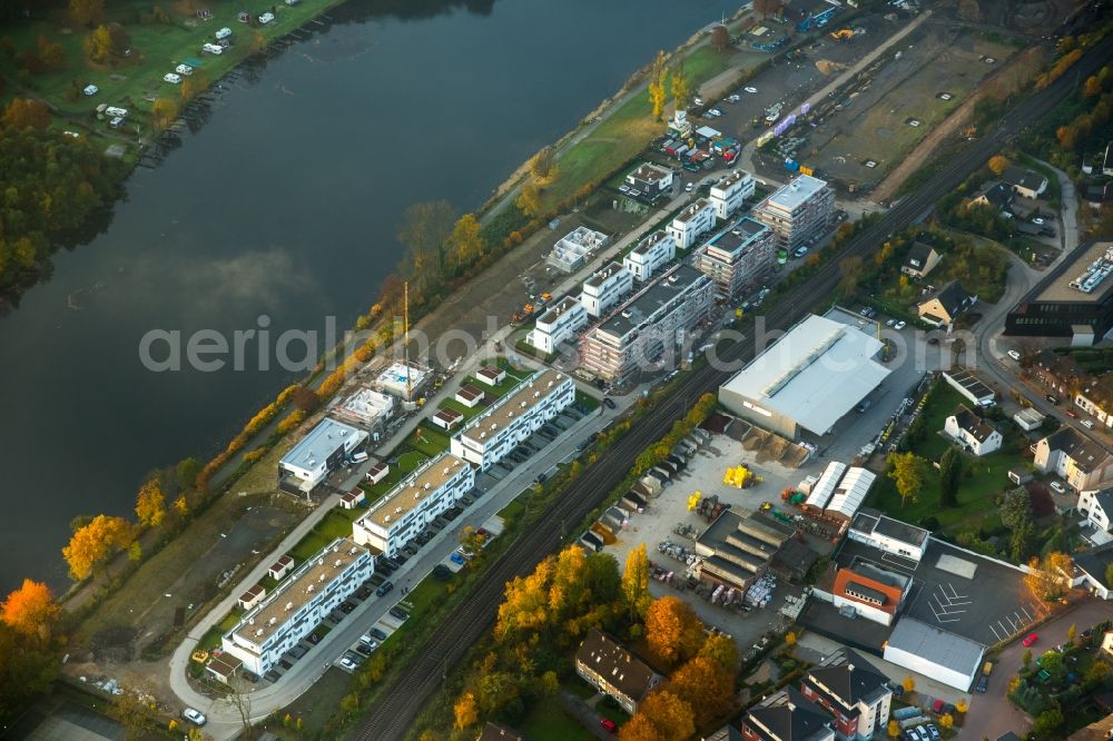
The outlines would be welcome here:
M 452 454 L 486 471 L 574 401 L 570 377 L 538 372 L 456 433 Z

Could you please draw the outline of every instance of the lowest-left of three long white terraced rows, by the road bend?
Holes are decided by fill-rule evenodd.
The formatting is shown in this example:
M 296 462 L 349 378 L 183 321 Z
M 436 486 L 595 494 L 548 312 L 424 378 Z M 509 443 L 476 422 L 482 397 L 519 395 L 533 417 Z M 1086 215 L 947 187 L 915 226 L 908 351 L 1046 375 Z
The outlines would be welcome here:
M 338 537 L 244 613 L 221 648 L 263 675 L 374 572 L 367 549 Z

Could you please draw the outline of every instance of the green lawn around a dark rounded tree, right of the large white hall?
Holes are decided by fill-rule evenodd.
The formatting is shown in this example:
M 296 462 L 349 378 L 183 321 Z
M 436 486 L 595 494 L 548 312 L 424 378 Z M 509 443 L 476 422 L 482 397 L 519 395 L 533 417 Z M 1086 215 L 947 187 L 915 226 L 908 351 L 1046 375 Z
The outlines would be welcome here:
M 954 408 L 964 403 L 951 386 L 940 383 L 924 407 L 925 439 L 916 448 L 916 455 L 929 463 L 937 462 L 951 447 L 951 443 L 938 434 Z M 939 506 L 939 472 L 929 468 L 924 487 L 915 502 L 902 505 L 893 481 L 885 475 L 878 477 L 867 498 L 866 506 L 876 507 L 886 514 L 909 523 L 919 523 L 926 517 L 936 517 L 944 531 L 955 532 L 969 523 L 996 511 L 994 496 L 1013 484 L 1007 477 L 1008 470 L 1021 465 L 1024 458 L 1015 437 L 1005 436 L 1002 449 L 974 458 L 964 456 L 963 478 L 958 488 L 958 505 Z

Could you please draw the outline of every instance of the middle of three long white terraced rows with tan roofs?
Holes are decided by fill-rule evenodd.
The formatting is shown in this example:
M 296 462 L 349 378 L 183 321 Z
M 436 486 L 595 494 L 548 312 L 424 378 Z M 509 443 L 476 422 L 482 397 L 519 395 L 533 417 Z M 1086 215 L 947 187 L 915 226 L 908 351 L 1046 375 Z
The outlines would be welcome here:
M 433 520 L 475 488 L 475 470 L 442 453 L 400 481 L 352 524 L 356 543 L 393 557 Z

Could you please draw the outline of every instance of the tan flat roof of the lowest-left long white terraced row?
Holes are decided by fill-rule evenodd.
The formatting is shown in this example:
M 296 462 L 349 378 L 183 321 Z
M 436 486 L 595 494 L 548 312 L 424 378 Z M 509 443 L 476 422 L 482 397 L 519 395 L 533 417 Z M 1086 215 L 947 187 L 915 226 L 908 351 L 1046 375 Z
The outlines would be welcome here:
M 337 537 L 298 566 L 263 602 L 244 613 L 233 633 L 245 641 L 263 643 L 365 553 L 370 551 L 352 539 Z

